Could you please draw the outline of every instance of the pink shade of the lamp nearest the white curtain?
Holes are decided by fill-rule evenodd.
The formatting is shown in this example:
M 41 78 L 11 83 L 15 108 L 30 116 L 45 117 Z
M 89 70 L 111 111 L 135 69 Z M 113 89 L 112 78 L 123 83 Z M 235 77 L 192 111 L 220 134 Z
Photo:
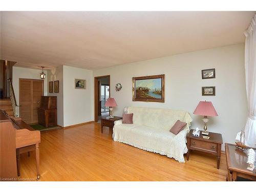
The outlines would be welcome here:
M 212 105 L 210 101 L 200 101 L 193 114 L 202 116 L 218 116 L 214 105 Z

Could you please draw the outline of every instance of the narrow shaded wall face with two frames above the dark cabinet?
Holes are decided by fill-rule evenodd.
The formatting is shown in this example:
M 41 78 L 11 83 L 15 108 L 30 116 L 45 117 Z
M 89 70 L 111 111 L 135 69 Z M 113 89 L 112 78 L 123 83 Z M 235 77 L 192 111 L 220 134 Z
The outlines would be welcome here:
M 59 81 L 59 93 L 49 93 L 49 86 L 48 86 L 47 95 L 57 96 L 57 124 L 60 126 L 64 126 L 64 123 L 63 123 L 63 66 L 59 66 L 55 69 L 48 70 L 47 72 L 48 72 L 47 73 L 48 85 L 49 85 L 49 81 L 56 81 L 56 80 Z

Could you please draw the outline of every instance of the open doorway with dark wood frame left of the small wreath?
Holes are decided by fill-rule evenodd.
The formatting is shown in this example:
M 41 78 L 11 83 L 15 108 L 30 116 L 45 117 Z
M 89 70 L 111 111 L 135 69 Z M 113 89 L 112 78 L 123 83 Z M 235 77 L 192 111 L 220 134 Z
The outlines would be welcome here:
M 94 121 L 109 116 L 109 107 L 105 106 L 110 98 L 110 75 L 94 77 Z

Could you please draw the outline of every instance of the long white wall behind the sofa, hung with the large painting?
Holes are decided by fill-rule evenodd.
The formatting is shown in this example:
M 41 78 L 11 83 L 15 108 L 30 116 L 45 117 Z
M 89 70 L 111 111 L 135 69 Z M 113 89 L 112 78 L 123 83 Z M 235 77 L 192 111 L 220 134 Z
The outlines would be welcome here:
M 215 79 L 201 79 L 201 70 L 216 69 Z M 165 102 L 132 101 L 132 77 L 165 74 Z M 223 143 L 233 143 L 244 128 L 247 115 L 244 44 L 189 52 L 93 71 L 93 76 L 110 75 L 111 97 L 117 102 L 114 115 L 124 106 L 147 106 L 186 110 L 193 118 L 191 129 L 202 130 L 201 116 L 193 112 L 201 100 L 212 101 L 218 117 L 209 117 L 208 131 L 221 133 Z M 114 85 L 122 89 L 116 92 Z M 202 96 L 201 87 L 216 86 L 216 96 Z M 222 145 L 224 150 L 224 145 Z

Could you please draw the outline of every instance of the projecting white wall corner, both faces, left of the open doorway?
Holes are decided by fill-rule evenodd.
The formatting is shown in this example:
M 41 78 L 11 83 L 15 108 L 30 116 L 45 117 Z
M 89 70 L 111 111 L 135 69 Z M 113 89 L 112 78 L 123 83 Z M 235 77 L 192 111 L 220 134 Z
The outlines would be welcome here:
M 70 66 L 59 66 L 48 70 L 49 81 L 59 80 L 57 96 L 57 122 L 65 127 L 93 120 L 93 72 Z M 75 79 L 86 79 L 86 89 L 75 89 Z

